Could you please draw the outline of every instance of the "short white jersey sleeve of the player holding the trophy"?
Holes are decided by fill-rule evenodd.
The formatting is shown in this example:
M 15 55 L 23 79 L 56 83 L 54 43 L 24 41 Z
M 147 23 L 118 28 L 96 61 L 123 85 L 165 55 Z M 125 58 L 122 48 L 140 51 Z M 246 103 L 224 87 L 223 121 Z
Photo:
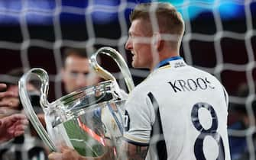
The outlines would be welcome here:
M 125 104 L 124 139 L 136 146 L 148 146 L 154 123 L 154 108 L 147 94 L 132 92 Z

